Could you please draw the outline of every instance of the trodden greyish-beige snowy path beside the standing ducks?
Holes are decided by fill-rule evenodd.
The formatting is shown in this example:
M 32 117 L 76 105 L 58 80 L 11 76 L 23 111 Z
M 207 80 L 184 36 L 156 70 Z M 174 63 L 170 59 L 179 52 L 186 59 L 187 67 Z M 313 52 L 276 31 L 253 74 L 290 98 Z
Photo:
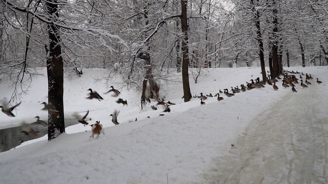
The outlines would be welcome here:
M 256 117 L 230 155 L 218 157 L 217 168 L 207 173 L 206 180 L 328 183 L 327 87 L 312 83 Z

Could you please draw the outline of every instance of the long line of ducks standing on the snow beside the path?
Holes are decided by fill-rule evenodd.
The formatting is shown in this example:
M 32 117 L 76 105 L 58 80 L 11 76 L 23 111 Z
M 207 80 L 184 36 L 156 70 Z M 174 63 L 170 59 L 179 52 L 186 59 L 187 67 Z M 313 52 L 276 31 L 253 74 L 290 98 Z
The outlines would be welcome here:
M 270 72 L 268 71 L 268 73 L 270 73 Z M 281 80 L 281 77 L 280 77 L 281 75 L 283 76 L 281 86 L 283 88 L 292 87 L 293 93 L 294 92 L 297 93 L 297 90 L 295 88 L 295 84 L 299 84 L 298 81 L 301 81 L 300 86 L 303 87 L 303 88 L 308 87 L 308 85 L 312 84 L 311 82 L 308 81 L 308 80 L 313 79 L 311 74 L 310 75 L 303 74 L 303 72 L 300 73 L 300 72 L 297 72 L 297 71 L 296 72 L 294 72 L 294 71 L 292 71 L 292 72 L 283 71 L 283 73 L 279 74 L 276 78 L 271 78 L 271 75 L 269 74 L 268 77 L 267 77 L 266 82 L 260 81 L 260 78 L 257 77 L 255 80 L 251 79 L 250 82 L 246 82 L 247 86 L 244 86 L 243 84 L 241 84 L 240 88 L 239 88 L 239 86 L 231 87 L 232 93 L 229 93 L 228 88 L 223 89 L 223 91 L 221 91 L 221 89 L 220 89 L 219 93 L 215 94 L 214 97 L 217 97 L 217 100 L 221 101 L 221 100 L 223 100 L 223 98 L 220 97 L 220 94 L 224 94 L 227 97 L 232 97 L 232 96 L 235 96 L 235 94 L 237 94 L 237 93 L 241 93 L 241 92 L 251 90 L 251 89 L 254 89 L 254 88 L 262 88 L 266 84 L 271 85 L 274 90 L 278 90 L 279 87 L 276 85 L 276 82 Z M 298 79 L 296 77 L 296 75 L 299 75 L 300 79 Z M 252 75 L 252 77 L 253 77 L 253 75 Z M 305 84 L 303 83 L 303 79 L 305 79 L 305 82 L 304 82 Z M 322 82 L 319 81 L 318 78 L 316 78 L 316 83 L 321 84 Z M 200 105 L 205 105 L 206 102 L 204 102 L 204 101 L 207 100 L 208 98 L 211 98 L 211 97 L 213 97 L 213 95 L 211 93 L 206 95 L 206 96 L 204 96 L 202 93 L 200 93 L 200 96 L 197 96 L 197 95 L 193 96 L 193 98 L 199 98 L 200 99 Z

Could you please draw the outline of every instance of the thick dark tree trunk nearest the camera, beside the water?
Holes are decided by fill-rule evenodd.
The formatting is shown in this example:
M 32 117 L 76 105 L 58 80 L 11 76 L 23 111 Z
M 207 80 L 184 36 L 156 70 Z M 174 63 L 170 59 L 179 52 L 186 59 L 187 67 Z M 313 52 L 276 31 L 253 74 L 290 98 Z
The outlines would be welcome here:
M 49 0 L 47 11 L 52 21 L 58 20 L 58 1 Z M 48 140 L 55 139 L 59 134 L 65 132 L 64 122 L 64 68 L 61 57 L 60 38 L 58 28 L 48 25 L 49 50 L 47 51 L 47 73 L 48 73 L 48 103 L 51 103 L 59 113 L 48 111 Z

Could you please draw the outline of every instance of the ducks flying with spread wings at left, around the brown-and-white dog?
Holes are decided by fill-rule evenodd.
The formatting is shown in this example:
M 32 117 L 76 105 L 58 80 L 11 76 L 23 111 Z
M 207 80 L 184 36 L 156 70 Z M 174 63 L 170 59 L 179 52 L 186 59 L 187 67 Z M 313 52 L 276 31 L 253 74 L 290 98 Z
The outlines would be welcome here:
M 115 89 L 113 86 L 111 86 L 112 89 L 110 89 L 109 91 L 107 91 L 104 94 L 109 94 L 112 93 L 113 97 L 118 97 L 120 95 L 120 91 Z M 96 91 L 92 90 L 91 88 L 89 88 L 88 90 L 90 90 L 90 94 L 89 97 L 87 97 L 87 99 L 96 99 L 96 100 L 104 100 L 103 97 L 101 97 Z M 9 117 L 15 117 L 15 115 L 12 113 L 12 111 L 21 104 L 22 102 L 17 103 L 16 105 L 13 105 L 11 107 L 7 106 L 7 102 L 3 101 L 2 105 L 0 106 L 0 108 L 2 109 L 1 111 L 3 113 L 5 113 L 7 116 Z M 118 100 L 116 100 L 116 103 L 118 104 L 123 104 L 123 106 L 128 105 L 127 100 L 123 100 L 121 98 L 119 98 Z M 59 113 L 59 111 L 57 111 L 55 109 L 55 107 L 51 104 L 51 103 L 46 103 L 46 102 L 42 102 L 41 104 L 44 104 L 44 107 L 41 110 L 48 110 L 49 112 L 53 113 L 53 114 L 57 114 Z M 84 126 L 88 125 L 89 123 L 87 122 L 86 118 L 89 114 L 89 110 L 87 111 L 87 113 L 85 114 L 85 116 L 81 117 L 77 112 L 73 113 L 73 117 L 75 117 L 75 119 L 83 124 Z M 115 125 L 118 125 L 119 123 L 117 122 L 117 116 L 119 114 L 119 111 L 115 110 L 112 114 L 110 114 L 110 116 L 112 117 L 112 122 Z M 36 116 L 36 121 L 30 124 L 27 124 L 25 122 L 22 122 L 21 127 L 21 133 L 25 133 L 26 135 L 37 135 L 37 133 L 39 133 L 39 131 L 35 131 L 33 130 L 33 128 L 31 127 L 31 125 L 40 125 L 40 126 L 49 126 L 47 122 L 40 120 L 39 116 Z M 90 119 L 91 120 L 91 119 Z M 99 124 L 99 122 L 96 122 Z M 92 125 L 91 125 L 92 126 Z

